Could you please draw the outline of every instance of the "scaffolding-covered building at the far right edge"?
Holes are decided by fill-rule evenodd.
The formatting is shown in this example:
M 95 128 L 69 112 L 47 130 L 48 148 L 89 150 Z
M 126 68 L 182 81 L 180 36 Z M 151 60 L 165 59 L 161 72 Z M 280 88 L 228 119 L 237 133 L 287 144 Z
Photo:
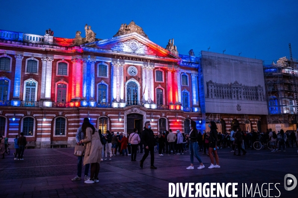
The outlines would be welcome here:
M 291 53 L 291 46 L 290 54 Z M 268 124 L 296 124 L 298 110 L 297 61 L 286 57 L 276 63 L 263 62 Z

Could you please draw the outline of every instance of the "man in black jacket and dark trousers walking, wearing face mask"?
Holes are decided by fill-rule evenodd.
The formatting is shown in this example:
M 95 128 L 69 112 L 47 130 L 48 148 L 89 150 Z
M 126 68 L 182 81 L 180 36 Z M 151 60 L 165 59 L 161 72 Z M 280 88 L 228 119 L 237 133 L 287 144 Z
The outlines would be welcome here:
M 140 167 L 143 168 L 144 161 L 148 157 L 149 151 L 150 151 L 150 156 L 151 156 L 150 168 L 157 169 L 154 166 L 154 133 L 151 130 L 150 121 L 147 121 L 145 123 L 144 130 L 142 131 L 141 141 L 144 144 L 145 154 L 143 155 L 143 158 L 140 161 Z

